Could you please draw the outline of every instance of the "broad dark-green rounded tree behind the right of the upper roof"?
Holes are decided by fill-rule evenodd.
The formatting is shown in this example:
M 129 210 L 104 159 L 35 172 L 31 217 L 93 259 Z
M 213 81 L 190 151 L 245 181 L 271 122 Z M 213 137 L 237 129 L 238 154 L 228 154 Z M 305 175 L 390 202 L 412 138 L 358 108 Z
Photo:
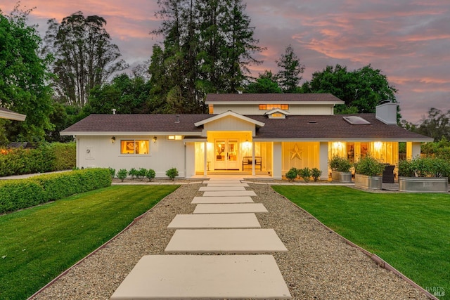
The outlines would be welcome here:
M 338 113 L 349 111 L 349 107 L 356 107 L 357 112 L 374 113 L 375 107 L 385 100 L 397 102 L 397 89 L 389 84 L 381 70 L 371 65 L 352 72 L 341 65 L 328 65 L 321 72 L 314 72 L 311 81 L 304 82 L 302 92 L 332 93 L 345 101 L 345 106 L 336 107 Z

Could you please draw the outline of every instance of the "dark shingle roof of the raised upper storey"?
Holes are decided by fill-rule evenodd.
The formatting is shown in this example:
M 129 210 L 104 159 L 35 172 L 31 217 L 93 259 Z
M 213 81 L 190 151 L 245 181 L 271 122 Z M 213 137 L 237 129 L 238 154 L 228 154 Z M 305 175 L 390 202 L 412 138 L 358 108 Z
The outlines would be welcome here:
M 209 93 L 206 96 L 206 104 L 231 104 L 253 102 L 267 103 L 321 103 L 344 104 L 340 98 L 330 93 Z

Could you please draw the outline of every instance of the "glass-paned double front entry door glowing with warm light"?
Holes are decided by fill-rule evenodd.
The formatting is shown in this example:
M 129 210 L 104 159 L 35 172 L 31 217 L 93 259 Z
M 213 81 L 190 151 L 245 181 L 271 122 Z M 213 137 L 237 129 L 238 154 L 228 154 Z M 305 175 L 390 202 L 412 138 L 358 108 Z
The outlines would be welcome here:
M 239 169 L 239 141 L 233 139 L 216 140 L 214 147 L 214 169 Z

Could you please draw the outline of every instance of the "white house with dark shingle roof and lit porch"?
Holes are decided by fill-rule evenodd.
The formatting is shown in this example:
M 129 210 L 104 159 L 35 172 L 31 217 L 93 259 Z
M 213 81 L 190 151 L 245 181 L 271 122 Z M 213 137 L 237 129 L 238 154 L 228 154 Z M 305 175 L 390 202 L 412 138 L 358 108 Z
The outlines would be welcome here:
M 420 155 L 432 138 L 397 126 L 397 104 L 375 114 L 334 115 L 344 104 L 330 93 L 209 94 L 209 114 L 89 115 L 61 132 L 77 141 L 77 167 L 172 167 L 181 178 L 210 174 L 264 174 L 282 178 L 290 168 L 318 168 L 328 179 L 334 155 L 364 155 L 388 164 Z

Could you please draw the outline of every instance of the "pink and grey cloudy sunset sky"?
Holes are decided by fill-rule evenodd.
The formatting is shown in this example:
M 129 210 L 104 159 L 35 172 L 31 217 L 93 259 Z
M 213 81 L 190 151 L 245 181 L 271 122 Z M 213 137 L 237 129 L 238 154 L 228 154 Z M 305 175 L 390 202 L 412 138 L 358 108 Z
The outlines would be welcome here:
M 278 72 L 275 60 L 289 44 L 306 66 L 303 79 L 340 64 L 355 70 L 369 63 L 382 70 L 399 92 L 401 115 L 417 123 L 430 107 L 450 110 L 450 1 L 449 0 L 247 0 L 246 13 L 255 27 L 259 46 L 252 75 Z M 2 0 L 8 14 L 16 1 Z M 46 21 L 82 11 L 100 15 L 106 30 L 129 65 L 148 60 L 152 45 L 162 41 L 149 32 L 159 27 L 156 0 L 22 0 L 33 8 L 30 24 L 43 37 Z

